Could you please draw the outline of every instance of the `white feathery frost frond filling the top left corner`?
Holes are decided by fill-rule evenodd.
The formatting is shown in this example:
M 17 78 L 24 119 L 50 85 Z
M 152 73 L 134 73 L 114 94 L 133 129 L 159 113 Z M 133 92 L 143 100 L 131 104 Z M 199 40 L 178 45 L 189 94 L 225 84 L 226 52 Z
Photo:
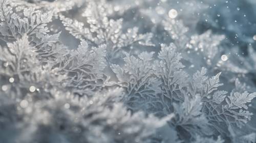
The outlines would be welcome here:
M 0 28 L 0 37 L 4 41 L 13 42 L 26 35 L 29 45 L 36 48 L 40 57 L 38 60 L 53 65 L 58 63 L 67 49 L 59 42 L 60 33 L 49 35 L 47 25 L 52 21 L 53 12 L 42 12 L 36 7 L 19 9 L 19 3 L 13 3 L 10 0 L 1 1 L 0 20 L 3 27 Z

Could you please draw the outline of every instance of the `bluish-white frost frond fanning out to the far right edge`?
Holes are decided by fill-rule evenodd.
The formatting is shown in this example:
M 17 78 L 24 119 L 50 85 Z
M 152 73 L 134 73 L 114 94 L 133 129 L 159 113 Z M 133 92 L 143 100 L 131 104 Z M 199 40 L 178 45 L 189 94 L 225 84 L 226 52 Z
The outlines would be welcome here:
M 231 92 L 230 96 L 226 96 L 226 94 L 227 92 L 224 91 L 215 92 L 212 95 L 212 101 L 207 99 L 204 101 L 203 109 L 212 127 L 224 134 L 230 124 L 241 128 L 250 120 L 252 113 L 247 110 L 246 103 L 251 102 L 256 96 L 255 93 L 247 92 Z M 224 98 L 225 100 L 223 100 Z

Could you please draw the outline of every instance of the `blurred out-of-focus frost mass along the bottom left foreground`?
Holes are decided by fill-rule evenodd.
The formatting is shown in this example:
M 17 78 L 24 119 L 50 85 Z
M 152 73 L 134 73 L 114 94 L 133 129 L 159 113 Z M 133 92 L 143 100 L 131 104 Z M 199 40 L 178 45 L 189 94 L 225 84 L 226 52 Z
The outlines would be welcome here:
M 0 122 L 0 130 L 16 132 L 9 134 L 10 139 L 1 136 L 3 141 L 144 142 L 169 119 L 146 117 L 142 112 L 131 115 L 121 103 L 109 105 L 111 98 L 119 94 L 117 90 L 80 100 L 58 90 L 50 90 L 50 99 L 38 98 L 38 94 L 12 99 L 1 91 L 0 101 L 9 104 L 0 102 L 0 111 L 5 115 L 2 121 L 8 123 Z M 2 110 L 6 108 L 10 109 L 8 113 Z M 12 116 L 21 120 L 9 120 Z

